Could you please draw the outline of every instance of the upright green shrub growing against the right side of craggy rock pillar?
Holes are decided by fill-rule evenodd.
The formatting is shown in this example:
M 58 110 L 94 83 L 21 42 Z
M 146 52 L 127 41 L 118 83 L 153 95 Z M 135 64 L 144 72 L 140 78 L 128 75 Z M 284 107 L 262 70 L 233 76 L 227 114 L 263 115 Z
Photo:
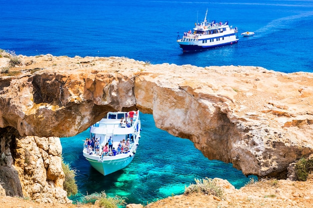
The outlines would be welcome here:
M 77 185 L 75 181 L 75 176 L 76 176 L 75 170 L 72 170 L 69 164 L 65 164 L 63 161 L 62 161 L 62 169 L 65 175 L 63 189 L 67 192 L 67 197 L 77 194 L 78 189 L 77 189 Z

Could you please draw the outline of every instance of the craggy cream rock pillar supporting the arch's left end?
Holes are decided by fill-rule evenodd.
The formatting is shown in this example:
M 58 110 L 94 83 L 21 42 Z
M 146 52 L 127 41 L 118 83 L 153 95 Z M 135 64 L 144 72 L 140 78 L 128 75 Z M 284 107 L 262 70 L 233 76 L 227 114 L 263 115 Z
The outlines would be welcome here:
M 62 147 L 58 137 L 19 136 L 12 127 L 1 129 L 1 185 L 4 196 L 40 203 L 71 203 L 63 190 Z M 2 152 L 4 150 L 4 152 Z

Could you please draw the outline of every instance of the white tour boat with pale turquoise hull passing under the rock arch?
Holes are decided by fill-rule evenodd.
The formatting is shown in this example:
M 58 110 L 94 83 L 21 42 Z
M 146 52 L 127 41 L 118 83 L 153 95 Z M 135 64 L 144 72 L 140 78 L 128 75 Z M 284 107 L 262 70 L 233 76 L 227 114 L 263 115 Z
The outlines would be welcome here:
M 110 137 L 112 148 L 108 152 L 103 151 Z M 106 176 L 125 168 L 132 161 L 139 138 L 139 111 L 108 112 L 105 118 L 90 127 L 90 138 L 86 139 L 82 154 L 95 170 Z M 91 143 L 87 143 L 88 139 Z M 127 148 L 118 147 L 123 140 L 128 140 Z

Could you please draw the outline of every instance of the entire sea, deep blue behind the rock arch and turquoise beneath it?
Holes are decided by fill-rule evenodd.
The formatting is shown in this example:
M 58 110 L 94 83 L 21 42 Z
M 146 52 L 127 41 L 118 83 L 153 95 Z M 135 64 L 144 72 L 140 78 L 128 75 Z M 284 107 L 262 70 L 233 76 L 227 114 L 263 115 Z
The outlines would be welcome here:
M 209 21 L 228 20 L 238 27 L 238 44 L 182 53 L 177 35 L 192 29 L 206 9 Z M 312 0 L 0 0 L 0 48 L 28 56 L 124 56 L 152 64 L 313 72 L 312 25 Z M 255 35 L 240 36 L 244 31 Z M 142 114 L 141 119 L 134 160 L 106 177 L 82 157 L 81 139 L 87 130 L 61 138 L 63 158 L 77 171 L 80 195 L 104 190 L 126 197 L 128 203 L 146 204 L 181 194 L 195 178 L 227 179 L 236 188 L 249 181 L 231 164 L 203 157 L 189 140 L 155 128 L 151 115 Z M 172 149 L 177 144 L 183 147 L 178 153 Z

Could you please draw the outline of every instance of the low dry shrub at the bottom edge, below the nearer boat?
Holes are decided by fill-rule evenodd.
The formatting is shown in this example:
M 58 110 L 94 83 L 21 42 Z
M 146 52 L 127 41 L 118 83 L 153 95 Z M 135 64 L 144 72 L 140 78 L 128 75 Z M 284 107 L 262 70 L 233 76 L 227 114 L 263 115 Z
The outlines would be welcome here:
M 84 196 L 81 203 L 94 204 L 96 201 L 99 202 L 99 207 L 101 208 L 119 208 L 120 206 L 126 205 L 125 200 L 121 197 L 107 197 L 104 191 Z

